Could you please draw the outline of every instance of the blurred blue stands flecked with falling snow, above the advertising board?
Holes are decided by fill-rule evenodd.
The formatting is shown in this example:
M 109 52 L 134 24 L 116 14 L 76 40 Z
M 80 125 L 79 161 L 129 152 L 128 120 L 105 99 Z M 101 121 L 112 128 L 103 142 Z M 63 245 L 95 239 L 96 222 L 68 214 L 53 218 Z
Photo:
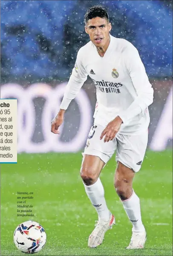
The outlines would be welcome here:
M 69 77 L 77 51 L 89 41 L 84 14 L 94 2 L 1 1 L 1 79 Z M 97 3 L 108 9 L 112 36 L 138 48 L 149 76 L 171 75 L 172 10 L 168 3 L 167 8 L 161 2 L 143 0 Z

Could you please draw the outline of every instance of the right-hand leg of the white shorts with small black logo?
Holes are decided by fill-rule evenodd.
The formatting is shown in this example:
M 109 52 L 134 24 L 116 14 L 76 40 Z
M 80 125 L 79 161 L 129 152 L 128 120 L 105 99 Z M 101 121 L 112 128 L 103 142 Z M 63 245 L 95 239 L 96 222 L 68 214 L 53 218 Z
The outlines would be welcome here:
M 135 173 L 138 172 L 144 160 L 147 143 L 147 130 L 135 136 L 118 134 L 116 161 L 120 161 Z

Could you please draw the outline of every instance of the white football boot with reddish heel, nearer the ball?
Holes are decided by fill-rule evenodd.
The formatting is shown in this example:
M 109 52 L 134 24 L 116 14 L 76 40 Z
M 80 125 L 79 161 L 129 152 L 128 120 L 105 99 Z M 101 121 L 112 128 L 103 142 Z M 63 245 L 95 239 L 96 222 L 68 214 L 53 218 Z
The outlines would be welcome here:
M 104 234 L 108 229 L 112 229 L 112 226 L 115 225 L 115 217 L 110 213 L 110 220 L 96 220 L 95 222 L 95 229 L 92 231 L 88 238 L 88 246 L 90 248 L 95 248 L 102 243 Z

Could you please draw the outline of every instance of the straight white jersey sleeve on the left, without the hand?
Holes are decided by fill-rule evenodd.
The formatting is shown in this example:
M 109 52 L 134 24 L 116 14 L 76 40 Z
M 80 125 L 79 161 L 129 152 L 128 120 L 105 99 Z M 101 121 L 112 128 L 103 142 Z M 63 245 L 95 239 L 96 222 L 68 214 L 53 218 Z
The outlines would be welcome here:
M 72 70 L 72 74 L 67 83 L 66 90 L 63 96 L 63 100 L 60 105 L 60 109 L 66 110 L 72 101 L 75 98 L 84 82 L 87 79 L 87 73 L 82 65 L 82 52 L 81 49 L 78 51 L 75 67 Z

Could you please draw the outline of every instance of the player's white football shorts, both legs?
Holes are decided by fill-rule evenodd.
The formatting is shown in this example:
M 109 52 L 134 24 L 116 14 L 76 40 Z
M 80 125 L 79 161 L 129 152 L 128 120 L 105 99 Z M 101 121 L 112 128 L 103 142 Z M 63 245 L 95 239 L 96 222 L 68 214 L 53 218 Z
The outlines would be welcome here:
M 103 130 L 104 127 L 101 125 L 95 124 L 91 127 L 82 154 L 98 156 L 107 164 L 116 150 L 116 161 L 138 172 L 147 148 L 148 130 L 134 136 L 117 134 L 112 141 L 105 143 L 104 137 L 100 140 Z

